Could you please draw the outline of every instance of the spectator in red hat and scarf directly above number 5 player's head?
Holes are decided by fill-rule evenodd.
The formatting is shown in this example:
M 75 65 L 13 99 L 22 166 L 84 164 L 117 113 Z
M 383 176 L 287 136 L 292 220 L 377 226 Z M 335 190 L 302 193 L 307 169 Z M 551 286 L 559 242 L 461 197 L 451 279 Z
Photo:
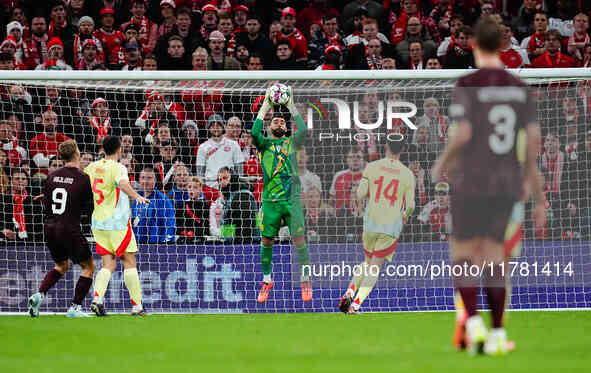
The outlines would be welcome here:
M 92 102 L 92 117 L 89 120 L 90 134 L 83 142 L 78 141 L 83 148 L 93 153 L 101 148 L 103 139 L 107 136 L 121 136 L 121 125 L 116 119 L 111 119 L 107 100 L 98 97 Z

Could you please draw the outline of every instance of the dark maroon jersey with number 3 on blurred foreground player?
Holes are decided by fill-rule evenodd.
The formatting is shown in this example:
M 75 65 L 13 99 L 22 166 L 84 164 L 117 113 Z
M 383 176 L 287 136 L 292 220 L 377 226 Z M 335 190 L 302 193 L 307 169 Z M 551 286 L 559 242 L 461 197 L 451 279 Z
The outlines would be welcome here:
M 472 128 L 450 180 L 452 193 L 517 199 L 525 127 L 536 123 L 535 100 L 525 83 L 504 69 L 480 69 L 458 79 L 449 115 L 454 123 L 467 121 Z

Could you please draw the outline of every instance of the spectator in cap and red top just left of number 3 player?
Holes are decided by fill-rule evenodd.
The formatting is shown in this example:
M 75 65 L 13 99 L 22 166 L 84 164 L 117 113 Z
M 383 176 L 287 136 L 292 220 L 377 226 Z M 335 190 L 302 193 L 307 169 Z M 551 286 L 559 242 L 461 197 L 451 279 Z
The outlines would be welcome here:
M 430 238 L 427 240 L 447 241 L 451 235 L 451 213 L 449 210 L 449 184 L 439 182 L 435 185 L 436 199 L 427 203 L 417 221 L 422 224 L 422 231 Z

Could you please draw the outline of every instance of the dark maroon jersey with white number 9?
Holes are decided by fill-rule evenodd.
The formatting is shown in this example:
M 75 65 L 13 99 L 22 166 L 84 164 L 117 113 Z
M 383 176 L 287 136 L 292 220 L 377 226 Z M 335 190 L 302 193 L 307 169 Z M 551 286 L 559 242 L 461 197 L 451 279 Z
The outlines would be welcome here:
M 80 214 L 92 211 L 88 176 L 76 167 L 62 167 L 43 182 L 45 223 L 80 230 Z

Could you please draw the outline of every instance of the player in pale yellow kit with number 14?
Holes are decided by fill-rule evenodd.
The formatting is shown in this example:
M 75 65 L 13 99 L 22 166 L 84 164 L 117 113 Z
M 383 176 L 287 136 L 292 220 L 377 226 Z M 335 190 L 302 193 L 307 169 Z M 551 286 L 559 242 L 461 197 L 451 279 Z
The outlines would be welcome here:
M 359 312 L 382 265 L 392 260 L 402 227 L 415 208 L 415 176 L 400 162 L 404 137 L 392 140 L 398 141 L 388 142 L 386 158 L 367 165 L 357 189 L 357 198 L 368 199 L 363 217 L 365 261 L 341 298 L 339 309 L 344 313 Z

